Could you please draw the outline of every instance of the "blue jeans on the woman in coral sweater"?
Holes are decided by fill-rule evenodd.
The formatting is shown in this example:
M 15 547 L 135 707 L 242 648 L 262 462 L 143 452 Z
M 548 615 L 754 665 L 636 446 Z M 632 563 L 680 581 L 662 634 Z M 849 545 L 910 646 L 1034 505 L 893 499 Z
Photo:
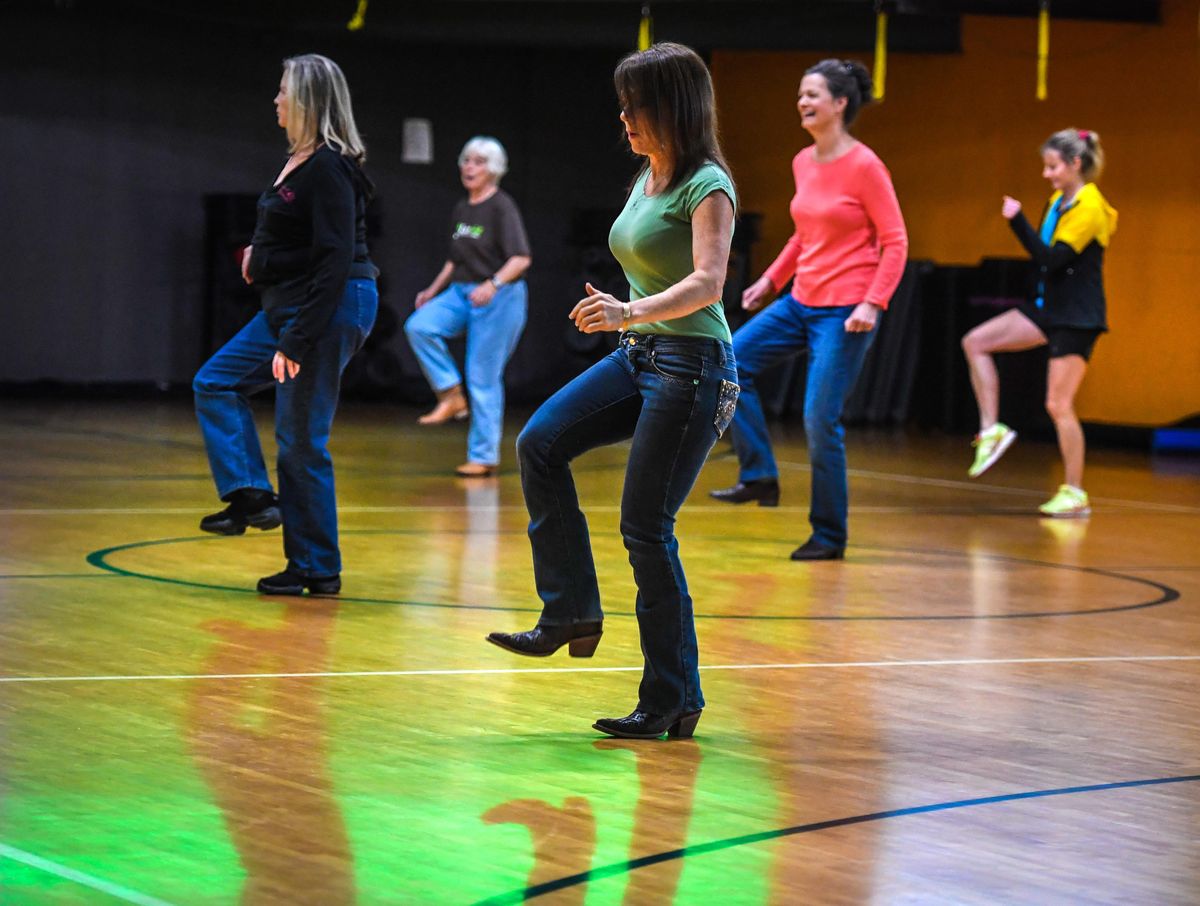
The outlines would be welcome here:
M 880 330 L 876 324 L 869 332 L 847 334 L 845 322 L 853 310 L 852 305 L 826 308 L 800 305 L 785 294 L 733 335 L 742 397 L 731 433 L 738 455 L 739 481 L 779 478 L 755 377 L 764 368 L 808 350 L 804 433 L 812 467 L 809 522 L 812 538 L 836 550 L 846 546 L 848 534 L 846 514 L 850 492 L 841 410 L 854 389 L 866 350 Z

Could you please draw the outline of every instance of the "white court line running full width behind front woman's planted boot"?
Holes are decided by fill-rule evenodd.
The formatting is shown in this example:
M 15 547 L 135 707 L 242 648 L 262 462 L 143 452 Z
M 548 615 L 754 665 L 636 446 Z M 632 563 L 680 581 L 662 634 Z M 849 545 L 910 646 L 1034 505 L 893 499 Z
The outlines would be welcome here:
M 853 670 L 869 667 L 979 667 L 1009 664 L 1110 664 L 1151 661 L 1200 661 L 1200 654 L 1110 655 L 1099 658 L 978 658 L 941 661 L 820 661 L 799 664 L 708 664 L 701 670 Z M 306 679 L 340 677 L 493 677 L 518 673 L 631 673 L 635 667 L 487 667 L 476 670 L 349 670 L 313 673 L 158 673 L 94 677 L 0 677 L 0 683 L 106 683 L 146 679 Z

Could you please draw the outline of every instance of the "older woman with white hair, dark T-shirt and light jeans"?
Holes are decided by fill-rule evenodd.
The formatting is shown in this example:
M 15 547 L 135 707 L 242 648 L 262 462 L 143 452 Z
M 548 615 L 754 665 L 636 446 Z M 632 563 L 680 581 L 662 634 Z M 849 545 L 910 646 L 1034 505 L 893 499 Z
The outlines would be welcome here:
M 472 138 L 458 155 L 467 198 L 451 217 L 450 256 L 437 277 L 416 294 L 404 323 L 438 402 L 419 419 L 440 425 L 470 416 L 463 478 L 487 478 L 500 462 L 504 431 L 504 366 L 524 329 L 530 264 L 521 211 L 500 188 L 508 170 L 504 146 L 488 136 Z M 467 388 L 446 341 L 467 337 Z

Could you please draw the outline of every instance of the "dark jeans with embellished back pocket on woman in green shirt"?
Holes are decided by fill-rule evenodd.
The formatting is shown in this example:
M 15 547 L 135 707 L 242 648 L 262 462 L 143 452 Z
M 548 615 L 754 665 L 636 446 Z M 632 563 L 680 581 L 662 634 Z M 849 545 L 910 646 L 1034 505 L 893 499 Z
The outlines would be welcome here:
M 637 583 L 646 666 L 638 707 L 704 707 L 696 626 L 674 536 L 676 514 L 732 416 L 737 367 L 728 343 L 624 334 L 620 346 L 554 394 L 517 438 L 529 509 L 540 625 L 599 620 L 600 588 L 570 462 L 632 438 L 620 534 Z

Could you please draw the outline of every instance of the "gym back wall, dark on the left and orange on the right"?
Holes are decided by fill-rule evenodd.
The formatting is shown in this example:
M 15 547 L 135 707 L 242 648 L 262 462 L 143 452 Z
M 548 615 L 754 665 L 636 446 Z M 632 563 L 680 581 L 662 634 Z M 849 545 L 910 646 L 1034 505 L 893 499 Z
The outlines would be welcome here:
M 1165 60 L 1183 73 L 1171 85 L 1195 84 L 1196 1 L 1056 0 L 1046 103 L 1031 100 L 1027 0 L 887 4 L 888 97 L 859 132 L 893 169 L 914 258 L 973 266 L 985 254 L 1018 253 L 997 226 L 1001 186 L 1031 204 L 1043 196 L 1030 149 L 1051 127 L 1086 121 L 1105 136 L 1105 188 L 1122 209 L 1109 265 L 1120 342 L 1102 344 L 1085 385 L 1085 416 L 1094 420 L 1163 424 L 1198 410 L 1200 334 L 1174 329 L 1171 316 L 1195 284 L 1187 224 L 1195 220 L 1200 133 L 1159 74 Z M 364 382 L 360 360 L 350 389 L 383 383 L 389 398 L 410 401 L 428 394 L 398 325 L 444 259 L 448 217 L 462 194 L 456 157 L 476 133 L 499 137 L 510 151 L 504 187 L 524 212 L 534 250 L 529 325 L 508 371 L 510 397 L 542 397 L 594 358 L 594 341 L 565 316 L 584 275 L 613 265 L 604 239 L 636 163 L 624 148 L 611 73 L 634 46 L 640 0 L 377 0 L 367 26 L 350 34 L 354 6 L 0 4 L 0 386 L 188 385 L 222 338 L 210 311 L 214 260 L 233 290 L 216 294 L 217 302 L 245 294 L 233 256 L 206 254 L 205 198 L 252 198 L 274 179 L 286 156 L 271 107 L 280 64 L 313 50 L 347 72 L 379 190 L 372 251 L 385 314 L 366 360 L 389 367 L 366 370 L 373 382 Z M 653 7 L 658 38 L 691 43 L 712 60 L 743 209 L 764 215 L 764 239 L 750 250 L 754 276 L 788 230 L 787 158 L 806 142 L 792 114 L 797 73 L 829 54 L 870 61 L 874 0 Z M 433 124 L 431 166 L 401 161 L 402 121 L 413 116 Z M 1157 140 L 1163 136 L 1171 140 Z M 739 229 L 743 241 L 754 233 Z M 619 292 L 619 276 L 610 280 L 605 288 Z M 919 349 L 923 362 L 938 356 L 938 368 L 923 367 L 918 384 L 926 372 L 953 372 L 962 384 L 954 332 L 967 322 L 944 312 L 971 293 L 952 300 L 926 289 L 914 287 L 913 304 L 929 310 L 938 344 L 905 348 Z M 990 286 L 972 293 L 1004 295 Z M 1170 392 L 1150 386 L 1159 371 L 1146 370 L 1147 360 L 1175 376 Z M 940 379 L 914 392 L 958 394 Z

